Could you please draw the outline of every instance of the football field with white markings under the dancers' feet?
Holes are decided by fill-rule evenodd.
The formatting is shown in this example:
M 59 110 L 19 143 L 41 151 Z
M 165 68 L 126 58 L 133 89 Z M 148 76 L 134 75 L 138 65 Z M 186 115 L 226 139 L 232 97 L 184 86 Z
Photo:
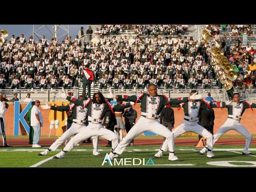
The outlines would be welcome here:
M 127 146 L 120 158 L 103 160 L 111 148 L 99 147 L 100 156 L 92 155 L 92 146 L 76 146 L 74 150 L 66 153 L 63 159 L 53 159 L 60 152 L 51 151 L 47 156 L 38 156 L 47 147 L 13 147 L 0 148 L 0 167 L 44 167 L 44 168 L 70 168 L 70 167 L 96 167 L 96 168 L 120 168 L 120 167 L 166 167 L 166 168 L 214 168 L 214 167 L 256 167 L 256 145 L 250 146 L 253 155 L 242 155 L 243 145 L 216 145 L 213 152 L 216 158 L 210 159 L 206 154 L 199 155 L 201 148 L 192 145 L 176 146 L 175 154 L 179 162 L 168 160 L 168 152 L 163 153 L 162 158 L 153 158 L 160 146 Z M 103 165 L 102 165 L 103 164 Z

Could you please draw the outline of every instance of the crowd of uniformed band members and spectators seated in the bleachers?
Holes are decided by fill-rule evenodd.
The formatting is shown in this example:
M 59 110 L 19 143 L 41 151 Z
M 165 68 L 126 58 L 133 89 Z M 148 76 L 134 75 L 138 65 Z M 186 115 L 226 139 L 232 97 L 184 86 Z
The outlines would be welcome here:
M 119 29 L 128 27 L 122 25 Z M 212 36 L 215 37 L 216 33 Z M 84 43 L 83 50 L 78 36 L 74 39 L 66 37 L 62 42 L 56 38 L 48 42 L 44 37 L 36 42 L 32 36 L 26 40 L 23 34 L 12 36 L 0 51 L 0 88 L 57 89 L 78 86 L 83 78 L 82 69 L 88 65 L 94 72 L 94 83 L 99 80 L 100 89 L 110 86 L 116 89 L 144 89 L 148 84 L 166 89 L 198 88 L 198 85 L 209 89 L 212 87 L 209 71 L 212 70 L 210 75 L 215 79 L 220 71 L 218 65 L 213 66 L 215 61 L 211 59 L 209 46 L 204 40 L 192 37 L 179 35 L 178 38 L 166 36 L 162 39 L 156 35 L 154 38 L 137 36 L 134 43 L 129 43 L 126 36 L 105 38 L 99 34 L 98 44 Z M 235 85 L 242 87 L 243 83 L 249 83 L 249 86 L 255 86 L 255 51 L 242 44 L 231 50 L 224 39 L 221 44 L 225 56 L 240 74 Z

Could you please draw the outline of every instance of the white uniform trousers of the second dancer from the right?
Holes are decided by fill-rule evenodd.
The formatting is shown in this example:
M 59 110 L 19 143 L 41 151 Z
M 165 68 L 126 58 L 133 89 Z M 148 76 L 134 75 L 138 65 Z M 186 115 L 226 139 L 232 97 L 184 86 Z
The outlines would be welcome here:
M 174 138 L 180 136 L 181 134 L 184 134 L 186 132 L 193 132 L 198 135 L 201 135 L 207 139 L 208 143 L 208 149 L 213 149 L 213 136 L 208 130 L 206 130 L 204 127 L 200 126 L 197 121 L 196 122 L 189 122 L 186 120 L 182 121 L 182 124 L 180 124 L 176 129 L 172 131 L 174 134 Z M 160 147 L 160 150 L 166 151 L 168 149 L 167 142 L 164 141 L 162 146 Z

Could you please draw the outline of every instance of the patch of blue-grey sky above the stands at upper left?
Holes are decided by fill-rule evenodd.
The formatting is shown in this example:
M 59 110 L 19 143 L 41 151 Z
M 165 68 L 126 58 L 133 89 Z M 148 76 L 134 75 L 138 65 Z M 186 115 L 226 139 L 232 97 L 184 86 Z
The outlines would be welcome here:
M 35 29 L 38 28 L 40 25 L 35 25 Z M 47 25 L 49 30 L 52 31 L 52 25 Z M 67 25 L 64 25 L 67 28 Z M 87 30 L 87 25 L 86 24 L 81 24 L 81 25 L 69 25 L 69 36 L 72 37 L 72 39 L 74 39 L 76 37 L 76 35 L 78 35 L 78 32 L 81 28 L 81 26 L 84 27 L 85 30 Z M 24 34 L 26 40 L 29 39 L 29 37 L 31 35 L 33 35 L 33 25 L 0 25 L 0 30 L 2 29 L 6 29 L 9 32 L 9 36 L 7 37 L 7 39 L 9 40 L 12 35 L 15 36 L 15 38 L 17 36 L 20 37 L 21 34 Z M 41 28 L 40 30 L 38 30 L 38 34 L 40 35 L 44 35 L 46 38 L 51 39 L 52 35 L 50 34 L 50 32 L 48 31 L 48 29 L 46 27 Z M 64 31 L 62 29 L 59 28 L 58 31 L 58 36 L 64 34 Z M 63 40 L 64 36 L 62 38 L 60 38 L 60 40 Z M 34 35 L 34 39 L 38 40 L 38 38 Z

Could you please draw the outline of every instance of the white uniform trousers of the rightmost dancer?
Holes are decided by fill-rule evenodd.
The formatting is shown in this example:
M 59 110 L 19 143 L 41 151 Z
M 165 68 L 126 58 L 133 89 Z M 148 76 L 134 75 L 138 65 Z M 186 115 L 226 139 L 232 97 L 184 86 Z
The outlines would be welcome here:
M 219 128 L 217 133 L 213 136 L 213 138 L 214 138 L 213 144 L 218 140 L 218 138 L 220 138 L 220 136 L 222 136 L 229 130 L 235 130 L 238 133 L 245 136 L 246 141 L 245 141 L 245 147 L 244 147 L 243 152 L 247 152 L 248 149 L 250 148 L 250 144 L 252 142 L 252 135 L 248 132 L 248 130 L 244 126 L 242 126 L 240 124 L 239 120 L 234 120 L 231 118 L 228 118 L 226 120 L 226 122 Z

